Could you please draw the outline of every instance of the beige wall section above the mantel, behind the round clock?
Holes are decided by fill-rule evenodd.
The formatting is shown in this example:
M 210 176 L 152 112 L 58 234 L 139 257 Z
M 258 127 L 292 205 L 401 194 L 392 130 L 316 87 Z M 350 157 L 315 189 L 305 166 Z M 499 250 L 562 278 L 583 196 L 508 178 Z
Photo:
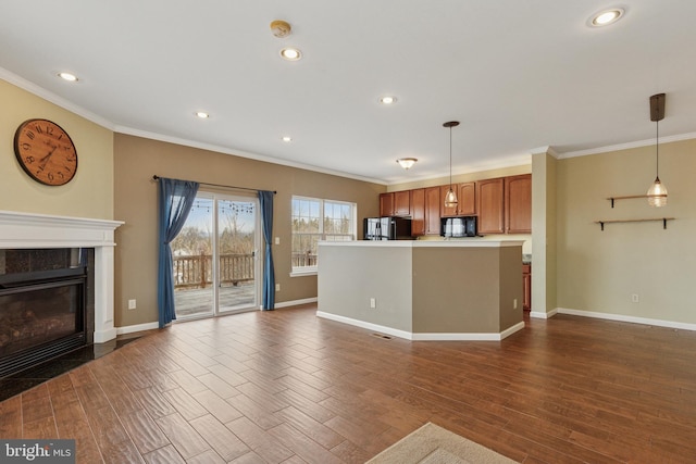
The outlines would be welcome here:
M 113 133 L 0 80 L 0 210 L 113 220 Z M 61 126 L 77 149 L 77 173 L 49 187 L 27 176 L 14 155 L 14 133 L 26 120 Z

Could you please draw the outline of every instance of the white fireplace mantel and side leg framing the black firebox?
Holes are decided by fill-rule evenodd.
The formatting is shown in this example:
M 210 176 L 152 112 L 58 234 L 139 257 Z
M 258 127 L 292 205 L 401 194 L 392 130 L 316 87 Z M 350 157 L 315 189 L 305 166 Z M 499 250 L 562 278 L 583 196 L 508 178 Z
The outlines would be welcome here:
M 94 248 L 95 342 L 116 338 L 113 322 L 114 230 L 121 221 L 0 211 L 0 249 Z

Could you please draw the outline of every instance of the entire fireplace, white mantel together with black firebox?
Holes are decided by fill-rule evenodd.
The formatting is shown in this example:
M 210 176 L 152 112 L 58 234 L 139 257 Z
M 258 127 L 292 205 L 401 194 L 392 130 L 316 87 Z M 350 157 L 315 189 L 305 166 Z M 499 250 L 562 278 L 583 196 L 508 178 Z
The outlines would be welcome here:
M 29 339 L 39 347 L 58 344 L 50 356 L 53 349 L 116 338 L 114 230 L 122 224 L 0 211 L 0 359 L 26 354 Z M 4 368 L 17 369 L 10 364 Z

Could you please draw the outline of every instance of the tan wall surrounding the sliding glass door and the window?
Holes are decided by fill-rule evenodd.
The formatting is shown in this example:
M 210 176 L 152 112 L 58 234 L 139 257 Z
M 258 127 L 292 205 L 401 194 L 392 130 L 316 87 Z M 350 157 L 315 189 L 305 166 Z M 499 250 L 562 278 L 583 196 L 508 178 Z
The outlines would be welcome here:
M 276 303 L 316 297 L 316 276 L 289 276 L 291 196 L 356 202 L 361 236 L 361 218 L 378 214 L 378 195 L 386 190 L 382 185 L 123 134 L 114 138 L 114 215 L 125 221 L 116 230 L 116 327 L 157 321 L 157 183 L 152 175 L 277 191 L 273 236 L 279 237 L 281 244 L 273 246 L 273 260 L 281 291 Z M 127 310 L 130 299 L 137 301 L 136 310 Z

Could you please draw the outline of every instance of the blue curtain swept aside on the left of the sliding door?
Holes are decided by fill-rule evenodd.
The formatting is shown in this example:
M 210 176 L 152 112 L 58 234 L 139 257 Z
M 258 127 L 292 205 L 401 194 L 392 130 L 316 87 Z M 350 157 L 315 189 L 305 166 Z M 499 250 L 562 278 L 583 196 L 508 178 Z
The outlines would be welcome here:
M 160 261 L 158 268 L 157 304 L 160 328 L 176 318 L 174 312 L 173 259 L 170 243 L 178 235 L 191 211 L 198 183 L 160 177 L 159 189 L 159 242 Z

